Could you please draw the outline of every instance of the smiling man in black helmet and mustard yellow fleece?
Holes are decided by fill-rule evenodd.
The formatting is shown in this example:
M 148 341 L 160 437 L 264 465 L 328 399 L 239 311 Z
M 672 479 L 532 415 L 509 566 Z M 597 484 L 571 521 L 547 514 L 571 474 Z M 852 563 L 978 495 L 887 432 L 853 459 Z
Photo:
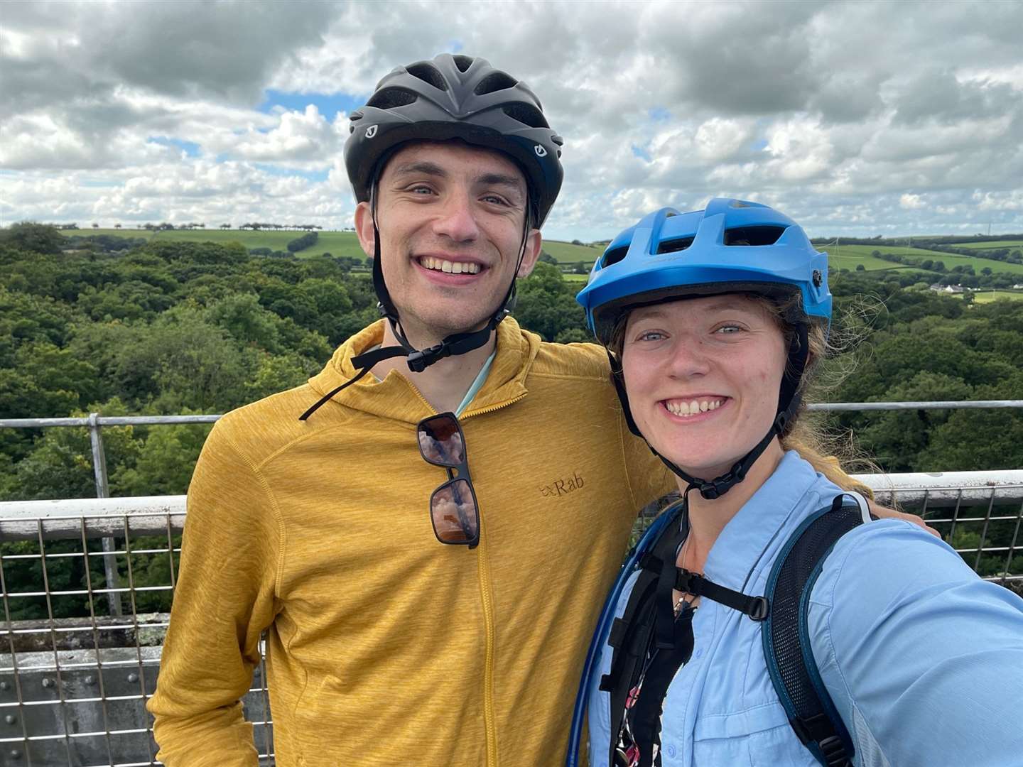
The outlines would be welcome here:
M 149 703 L 160 758 L 255 767 L 238 698 L 269 629 L 280 767 L 558 764 L 636 509 L 671 482 L 602 349 L 505 318 L 562 180 L 532 92 L 443 54 L 352 121 L 386 319 L 207 441 Z M 457 439 L 417 428 L 446 411 Z

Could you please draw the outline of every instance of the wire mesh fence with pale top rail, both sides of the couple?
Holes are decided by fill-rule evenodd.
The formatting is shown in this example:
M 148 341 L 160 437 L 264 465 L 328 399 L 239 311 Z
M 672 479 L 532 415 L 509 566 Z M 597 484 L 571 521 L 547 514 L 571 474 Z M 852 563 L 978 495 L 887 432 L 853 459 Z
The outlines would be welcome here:
M 925 516 L 982 577 L 1023 590 L 1023 471 L 860 479 Z M 0 503 L 0 764 L 160 764 L 144 706 L 184 518 L 181 496 Z M 243 704 L 272 764 L 265 679 L 264 655 Z

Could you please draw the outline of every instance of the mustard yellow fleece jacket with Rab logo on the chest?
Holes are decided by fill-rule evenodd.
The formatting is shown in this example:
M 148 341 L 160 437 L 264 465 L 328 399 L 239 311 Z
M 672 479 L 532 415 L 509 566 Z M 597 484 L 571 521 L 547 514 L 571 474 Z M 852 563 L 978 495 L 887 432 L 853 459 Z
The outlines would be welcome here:
M 596 614 L 639 507 L 674 483 L 633 438 L 592 345 L 505 319 L 460 417 L 480 545 L 434 537 L 444 469 L 409 380 L 351 377 L 383 323 L 307 386 L 228 413 L 188 491 L 148 709 L 169 767 L 256 767 L 238 700 L 268 630 L 278 767 L 522 767 L 565 758 Z

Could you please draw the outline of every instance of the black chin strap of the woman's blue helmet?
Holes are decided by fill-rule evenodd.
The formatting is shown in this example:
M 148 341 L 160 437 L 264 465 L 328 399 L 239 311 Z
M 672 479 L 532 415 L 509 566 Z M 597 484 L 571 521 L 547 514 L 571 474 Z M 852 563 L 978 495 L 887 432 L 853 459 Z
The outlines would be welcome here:
M 767 431 L 766 436 L 756 444 L 756 446 L 736 461 L 735 465 L 727 471 L 725 471 L 720 477 L 715 477 L 713 480 L 702 480 L 699 477 L 693 477 L 691 473 L 682 470 L 679 466 L 675 465 L 672 461 L 661 455 L 654 447 L 648 442 L 647 446 L 654 455 L 661 459 L 661 462 L 667 466 L 672 473 L 681 480 L 684 480 L 688 487 L 685 492 L 688 493 L 690 490 L 699 490 L 700 495 L 702 495 L 707 500 L 714 500 L 715 498 L 720 498 L 726 492 L 728 492 L 732 487 L 738 485 L 740 482 L 746 479 L 746 475 L 756 463 L 757 458 L 763 454 L 763 451 L 767 449 L 771 441 L 775 437 L 781 437 L 785 434 L 786 427 L 789 425 L 789 421 L 792 420 L 796 411 L 799 409 L 799 403 L 801 397 L 799 395 L 799 384 L 803 377 L 803 371 L 806 369 L 806 357 L 808 352 L 808 341 L 807 341 L 807 325 L 805 322 L 800 322 L 796 325 L 796 334 L 793 337 L 791 344 L 789 345 L 789 354 L 787 357 L 787 364 L 785 366 L 785 373 L 782 376 L 782 387 L 779 393 L 779 403 L 777 403 L 777 414 L 774 416 L 774 420 L 771 423 L 770 428 Z M 611 360 L 611 378 L 615 384 L 615 391 L 618 393 L 618 399 L 622 404 L 622 411 L 625 415 L 625 422 L 629 426 L 629 431 L 636 435 L 637 437 L 642 437 L 639 428 L 636 426 L 635 420 L 632 418 L 632 411 L 629 409 L 628 394 L 625 391 L 625 380 L 622 375 L 621 363 L 614 357 L 611 350 L 608 350 L 608 359 Z M 646 440 L 646 438 L 643 438 Z

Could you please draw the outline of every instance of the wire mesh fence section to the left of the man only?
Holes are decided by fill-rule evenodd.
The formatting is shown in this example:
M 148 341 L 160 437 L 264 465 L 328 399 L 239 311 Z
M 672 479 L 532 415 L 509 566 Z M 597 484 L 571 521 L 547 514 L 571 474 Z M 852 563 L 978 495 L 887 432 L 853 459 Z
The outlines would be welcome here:
M 160 764 L 145 702 L 157 686 L 184 514 L 4 518 L 3 505 L 0 764 Z M 122 615 L 110 615 L 115 598 Z M 265 679 L 264 657 L 243 704 L 261 760 L 272 763 Z

